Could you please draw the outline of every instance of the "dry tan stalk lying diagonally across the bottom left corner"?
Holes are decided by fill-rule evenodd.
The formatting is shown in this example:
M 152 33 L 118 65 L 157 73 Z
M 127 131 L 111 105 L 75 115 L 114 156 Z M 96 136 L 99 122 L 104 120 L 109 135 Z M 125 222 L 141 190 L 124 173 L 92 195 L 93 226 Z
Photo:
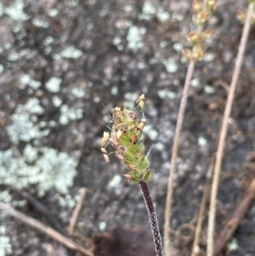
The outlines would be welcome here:
M 28 217 L 25 214 L 16 211 L 14 208 L 9 207 L 3 202 L 0 202 L 0 210 L 7 212 L 10 216 L 14 217 L 15 219 L 19 219 L 22 222 L 26 223 L 27 225 L 30 225 L 31 227 L 35 228 L 36 230 L 39 230 L 42 233 L 50 236 L 51 238 L 63 244 L 65 247 L 70 248 L 71 250 L 75 250 L 86 256 L 94 256 L 93 253 L 88 252 L 88 250 L 79 246 L 76 242 L 72 242 L 70 239 L 66 238 L 65 236 L 62 236 L 57 231 L 49 228 L 47 225 L 43 225 L 41 222 L 37 221 L 37 219 L 32 219 L 31 217 Z

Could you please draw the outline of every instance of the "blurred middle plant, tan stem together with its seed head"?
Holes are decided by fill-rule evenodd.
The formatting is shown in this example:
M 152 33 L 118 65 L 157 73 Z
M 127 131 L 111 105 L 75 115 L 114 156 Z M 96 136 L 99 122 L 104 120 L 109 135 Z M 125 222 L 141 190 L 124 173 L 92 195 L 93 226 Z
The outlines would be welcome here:
M 215 11 L 217 0 L 205 0 L 201 2 L 199 0 L 194 0 L 192 7 L 195 12 L 193 15 L 193 20 L 195 22 L 196 31 L 190 31 L 188 34 L 188 40 L 191 45 L 190 49 L 184 49 L 184 57 L 190 62 L 188 71 L 186 73 L 184 92 L 182 95 L 180 107 L 178 110 L 177 125 L 175 128 L 175 135 L 173 140 L 173 151 L 171 158 L 171 166 L 169 170 L 169 181 L 167 185 L 167 202 L 165 210 L 165 225 L 164 225 L 164 251 L 166 256 L 171 256 L 170 247 L 170 222 L 171 222 L 171 206 L 173 198 L 173 177 L 176 169 L 176 160 L 178 156 L 178 143 L 179 136 L 184 120 L 184 111 L 186 108 L 188 92 L 190 88 L 190 81 L 193 77 L 195 62 L 202 60 L 205 54 L 205 42 L 208 37 L 212 36 L 212 32 L 204 30 L 204 25 L 211 17 L 212 13 Z

